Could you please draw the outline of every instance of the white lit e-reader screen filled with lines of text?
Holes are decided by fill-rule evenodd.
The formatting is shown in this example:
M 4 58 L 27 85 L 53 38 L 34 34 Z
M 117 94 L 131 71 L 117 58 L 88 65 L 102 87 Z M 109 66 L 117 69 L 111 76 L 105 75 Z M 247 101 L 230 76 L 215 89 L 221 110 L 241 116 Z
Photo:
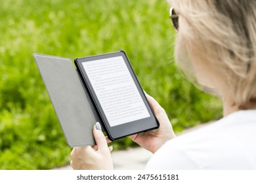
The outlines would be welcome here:
M 150 117 L 122 56 L 82 65 L 110 126 Z

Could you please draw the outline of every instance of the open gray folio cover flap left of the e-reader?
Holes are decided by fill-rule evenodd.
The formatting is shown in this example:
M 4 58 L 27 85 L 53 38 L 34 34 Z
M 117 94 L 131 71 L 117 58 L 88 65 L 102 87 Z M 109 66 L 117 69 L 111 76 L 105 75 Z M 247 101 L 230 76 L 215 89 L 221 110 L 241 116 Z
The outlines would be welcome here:
M 93 125 L 100 122 L 87 90 L 68 58 L 33 54 L 70 147 L 95 144 Z

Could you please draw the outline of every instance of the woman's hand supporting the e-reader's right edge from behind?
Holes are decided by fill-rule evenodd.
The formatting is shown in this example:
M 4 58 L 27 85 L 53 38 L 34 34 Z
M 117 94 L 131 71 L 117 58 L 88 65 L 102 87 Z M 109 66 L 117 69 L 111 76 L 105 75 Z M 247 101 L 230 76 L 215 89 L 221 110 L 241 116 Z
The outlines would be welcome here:
M 160 148 L 169 139 L 175 138 L 175 133 L 173 132 L 173 127 L 168 119 L 165 110 L 159 105 L 159 103 L 150 95 L 146 94 L 148 103 L 152 107 L 152 110 L 160 123 L 158 129 L 152 131 L 146 131 L 144 133 L 138 133 L 131 135 L 131 139 L 145 148 L 150 152 L 154 153 L 158 148 Z

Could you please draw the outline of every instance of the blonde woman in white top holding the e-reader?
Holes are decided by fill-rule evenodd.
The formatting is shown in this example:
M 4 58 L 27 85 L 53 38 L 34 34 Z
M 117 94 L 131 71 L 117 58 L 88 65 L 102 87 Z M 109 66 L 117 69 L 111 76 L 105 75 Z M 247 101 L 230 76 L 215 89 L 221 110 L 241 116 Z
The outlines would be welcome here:
M 224 117 L 175 138 L 149 95 L 160 128 L 131 139 L 154 156 L 146 169 L 256 169 L 256 1 L 173 0 L 175 57 L 184 73 L 223 101 Z M 113 169 L 112 147 L 96 124 L 96 146 L 72 151 L 74 169 Z

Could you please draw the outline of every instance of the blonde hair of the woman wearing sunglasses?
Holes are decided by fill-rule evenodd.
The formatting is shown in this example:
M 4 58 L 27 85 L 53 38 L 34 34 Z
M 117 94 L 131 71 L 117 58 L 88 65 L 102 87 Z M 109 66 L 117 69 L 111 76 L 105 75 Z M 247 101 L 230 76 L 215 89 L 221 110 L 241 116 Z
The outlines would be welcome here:
M 184 72 L 191 74 L 186 63 L 189 46 L 223 75 L 234 105 L 245 108 L 255 102 L 256 1 L 176 0 L 171 5 L 179 14 L 175 56 Z

